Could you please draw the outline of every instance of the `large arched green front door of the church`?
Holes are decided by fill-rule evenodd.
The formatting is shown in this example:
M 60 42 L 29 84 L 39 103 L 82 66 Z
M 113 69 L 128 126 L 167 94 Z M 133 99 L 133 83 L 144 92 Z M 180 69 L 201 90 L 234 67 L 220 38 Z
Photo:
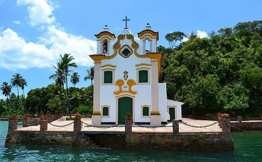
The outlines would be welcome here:
M 122 97 L 118 99 L 118 123 L 125 121 L 127 113 L 133 116 L 133 99 L 130 97 Z

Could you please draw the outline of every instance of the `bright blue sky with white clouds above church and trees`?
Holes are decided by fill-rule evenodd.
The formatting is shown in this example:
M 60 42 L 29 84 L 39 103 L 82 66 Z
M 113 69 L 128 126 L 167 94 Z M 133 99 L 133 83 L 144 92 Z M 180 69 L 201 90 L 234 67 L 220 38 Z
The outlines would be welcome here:
M 20 73 L 28 83 L 25 93 L 53 83 L 59 54 L 71 53 L 79 65 L 80 83 L 87 87 L 86 70 L 96 52 L 94 34 L 105 24 L 121 34 L 125 16 L 130 32 L 145 29 L 147 22 L 159 32 L 158 45 L 168 47 L 164 36 L 170 31 L 196 32 L 201 38 L 212 30 L 233 27 L 238 22 L 261 20 L 262 1 L 80 1 L 0 0 L 0 83 Z M 72 86 L 70 83 L 69 86 Z M 13 88 L 13 92 L 16 89 Z M 20 89 L 20 94 L 21 94 Z M 1 94 L 0 98 L 4 98 Z

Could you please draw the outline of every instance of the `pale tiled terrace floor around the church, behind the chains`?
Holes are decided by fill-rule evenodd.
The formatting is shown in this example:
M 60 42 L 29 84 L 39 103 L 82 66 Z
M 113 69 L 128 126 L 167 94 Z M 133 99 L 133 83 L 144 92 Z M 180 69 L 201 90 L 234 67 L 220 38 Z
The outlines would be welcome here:
M 88 124 L 91 124 L 91 119 L 90 118 L 82 118 L 82 121 Z M 195 120 L 191 118 L 183 118 L 182 121 L 187 122 L 188 124 L 195 125 L 195 126 L 204 126 L 208 124 L 212 124 L 216 121 L 210 121 L 210 120 Z M 52 124 L 55 125 L 65 125 L 73 122 L 72 120 L 70 121 L 61 121 L 61 120 L 56 120 L 52 122 Z M 109 126 L 109 125 L 107 125 Z M 24 131 L 39 131 L 40 126 L 29 126 L 29 127 L 24 127 L 24 128 L 18 128 L 17 130 L 24 130 Z M 168 124 L 165 127 L 161 128 L 141 128 L 136 125 L 133 125 L 132 128 L 133 132 L 166 132 L 166 133 L 172 133 L 173 128 L 172 128 L 172 123 Z M 65 127 L 55 127 L 50 124 L 48 124 L 48 130 L 47 131 L 54 131 L 54 132 L 72 132 L 73 131 L 73 124 Z M 107 128 L 107 129 L 102 129 L 102 128 L 94 128 L 94 127 L 88 127 L 85 124 L 83 124 L 82 131 L 90 131 L 90 132 L 101 132 L 101 131 L 107 131 L 107 132 L 124 132 L 125 127 L 124 125 L 120 125 L 117 127 L 113 128 Z M 198 133 L 198 132 L 221 132 L 222 130 L 219 128 L 218 124 L 215 124 L 210 127 L 206 128 L 192 128 L 189 126 L 186 126 L 182 123 L 179 123 L 179 132 L 180 133 Z

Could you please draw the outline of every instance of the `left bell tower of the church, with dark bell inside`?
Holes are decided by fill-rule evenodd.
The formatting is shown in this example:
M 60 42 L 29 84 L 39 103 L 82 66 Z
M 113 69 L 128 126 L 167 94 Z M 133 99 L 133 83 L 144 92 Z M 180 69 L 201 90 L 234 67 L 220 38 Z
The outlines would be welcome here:
M 103 32 L 95 34 L 94 36 L 97 38 L 96 54 L 110 56 L 113 52 L 113 40 L 116 38 L 115 34 L 110 33 L 108 26 L 105 25 Z

